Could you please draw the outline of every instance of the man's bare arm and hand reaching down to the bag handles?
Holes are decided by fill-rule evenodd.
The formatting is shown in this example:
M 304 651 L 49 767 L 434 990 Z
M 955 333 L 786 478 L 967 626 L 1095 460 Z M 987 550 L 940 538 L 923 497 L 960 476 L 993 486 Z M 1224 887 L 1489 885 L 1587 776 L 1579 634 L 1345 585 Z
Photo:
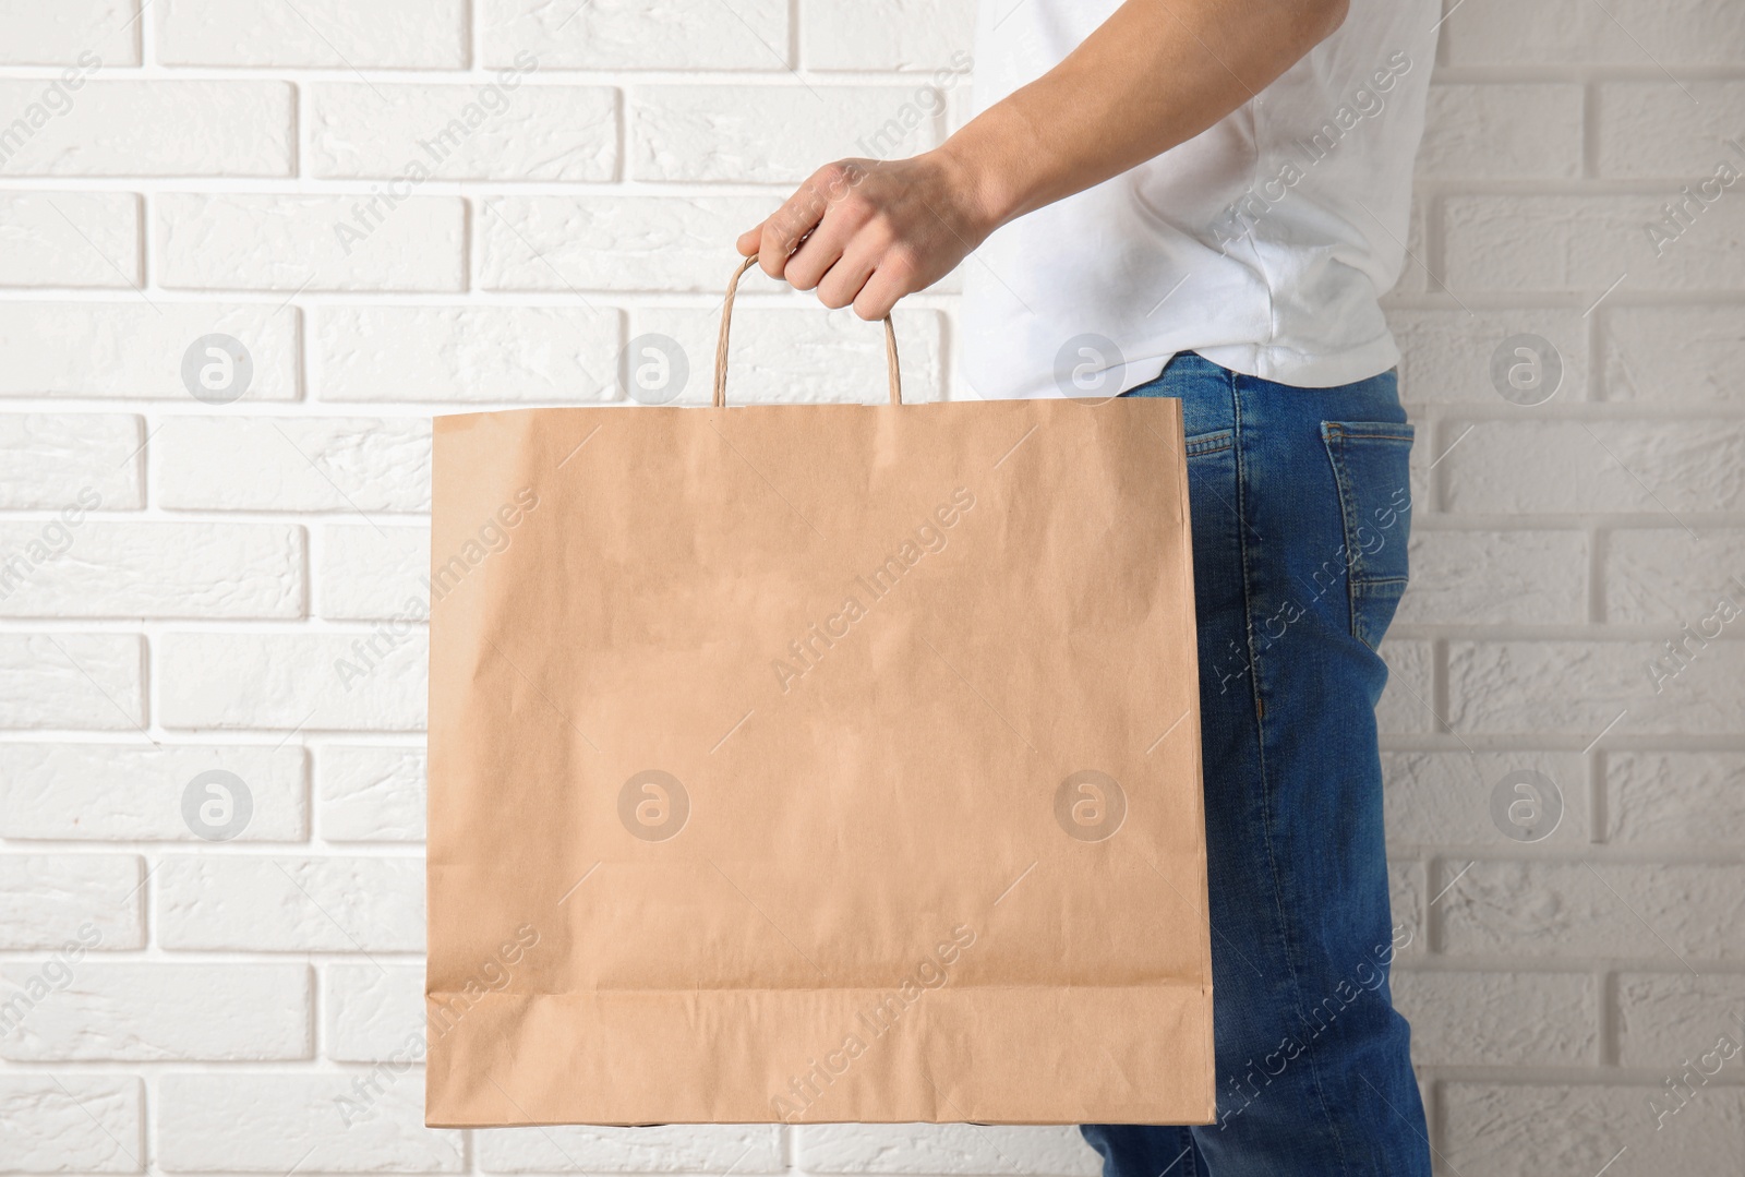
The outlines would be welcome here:
M 817 286 L 824 306 L 883 318 L 1005 222 L 1223 119 L 1338 28 L 1345 5 L 1127 0 L 1064 61 L 939 148 L 818 169 L 740 236 L 740 253 L 799 290 Z

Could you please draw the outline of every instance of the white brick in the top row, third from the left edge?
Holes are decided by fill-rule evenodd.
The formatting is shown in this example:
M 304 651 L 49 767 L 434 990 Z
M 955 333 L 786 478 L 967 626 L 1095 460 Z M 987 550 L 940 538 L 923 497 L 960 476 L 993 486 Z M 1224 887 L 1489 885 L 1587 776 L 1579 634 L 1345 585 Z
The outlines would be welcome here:
M 742 0 L 480 0 L 485 63 L 534 54 L 543 70 L 787 70 L 789 5 Z M 525 59 L 525 58 L 524 58 Z

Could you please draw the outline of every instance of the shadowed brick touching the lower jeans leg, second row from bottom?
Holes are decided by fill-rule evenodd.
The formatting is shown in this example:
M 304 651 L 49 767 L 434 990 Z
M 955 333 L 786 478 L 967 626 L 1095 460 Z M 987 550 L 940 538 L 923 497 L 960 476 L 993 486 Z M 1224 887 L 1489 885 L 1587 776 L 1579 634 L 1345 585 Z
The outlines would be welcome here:
M 1598 1057 L 1600 995 L 1586 973 L 1394 969 L 1419 1067 L 1581 1067 Z

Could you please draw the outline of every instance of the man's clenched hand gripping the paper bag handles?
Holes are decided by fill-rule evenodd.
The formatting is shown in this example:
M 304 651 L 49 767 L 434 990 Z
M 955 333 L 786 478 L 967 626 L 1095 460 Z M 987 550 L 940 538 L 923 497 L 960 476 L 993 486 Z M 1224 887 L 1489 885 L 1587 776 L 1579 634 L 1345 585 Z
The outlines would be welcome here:
M 934 150 L 827 164 L 738 246 L 771 278 L 817 286 L 824 306 L 853 304 L 860 318 L 881 320 L 897 299 L 956 269 L 993 227 L 972 173 Z

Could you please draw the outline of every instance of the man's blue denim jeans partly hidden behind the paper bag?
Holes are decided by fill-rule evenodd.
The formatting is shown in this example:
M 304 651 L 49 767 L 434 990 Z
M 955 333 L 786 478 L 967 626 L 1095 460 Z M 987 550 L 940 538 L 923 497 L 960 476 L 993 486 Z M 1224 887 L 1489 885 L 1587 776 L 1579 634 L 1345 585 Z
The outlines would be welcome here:
M 1105 1177 L 1427 1177 L 1375 744 L 1412 522 L 1394 374 L 1293 388 L 1187 353 L 1127 396 L 1187 419 L 1218 1121 L 1082 1132 Z

